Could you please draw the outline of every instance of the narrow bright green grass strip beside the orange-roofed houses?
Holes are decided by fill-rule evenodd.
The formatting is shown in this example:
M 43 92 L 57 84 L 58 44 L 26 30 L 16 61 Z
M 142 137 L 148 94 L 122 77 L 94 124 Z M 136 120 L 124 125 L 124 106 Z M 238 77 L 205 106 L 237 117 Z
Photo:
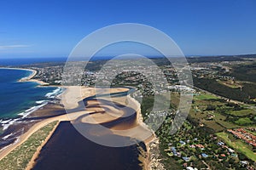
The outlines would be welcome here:
M 217 133 L 217 135 L 221 139 L 224 139 L 225 143 L 230 145 L 230 147 L 243 153 L 245 156 L 247 156 L 251 160 L 256 161 L 256 153 L 253 152 L 253 150 L 251 149 L 251 146 L 249 146 L 248 144 L 245 144 L 240 139 L 231 140 L 229 137 L 230 134 L 228 134 L 228 133 L 224 133 L 224 132 Z

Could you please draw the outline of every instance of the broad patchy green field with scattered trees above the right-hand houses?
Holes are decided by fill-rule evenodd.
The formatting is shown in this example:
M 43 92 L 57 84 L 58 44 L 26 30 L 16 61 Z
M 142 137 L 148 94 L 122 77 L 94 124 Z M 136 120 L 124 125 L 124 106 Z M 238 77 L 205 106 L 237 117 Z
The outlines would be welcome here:
M 236 111 L 238 110 L 238 111 Z M 256 115 L 256 111 L 247 109 L 245 105 L 236 105 L 224 101 L 211 94 L 198 94 L 194 97 L 189 116 L 195 122 L 201 122 L 216 133 L 227 128 L 253 127 L 253 120 L 248 116 Z M 209 118 L 211 117 L 212 118 Z

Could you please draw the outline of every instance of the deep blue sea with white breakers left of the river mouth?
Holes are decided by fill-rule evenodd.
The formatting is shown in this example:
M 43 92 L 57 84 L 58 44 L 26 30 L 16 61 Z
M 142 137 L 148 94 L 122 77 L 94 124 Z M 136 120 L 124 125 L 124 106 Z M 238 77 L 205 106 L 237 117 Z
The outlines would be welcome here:
M 61 91 L 55 87 L 38 87 L 37 82 L 18 82 L 32 71 L 0 69 L 0 122 L 7 124 L 24 117 L 47 103 Z

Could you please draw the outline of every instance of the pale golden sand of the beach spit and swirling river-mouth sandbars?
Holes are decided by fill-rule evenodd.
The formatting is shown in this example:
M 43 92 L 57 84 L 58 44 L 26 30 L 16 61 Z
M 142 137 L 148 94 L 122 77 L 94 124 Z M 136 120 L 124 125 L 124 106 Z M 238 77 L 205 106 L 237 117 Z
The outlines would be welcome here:
M 33 71 L 33 74 L 30 77 L 26 77 L 24 80 L 31 79 L 36 74 L 35 71 Z M 24 81 L 23 80 L 23 81 Z M 65 105 L 66 110 L 73 110 L 79 108 L 79 102 L 83 99 L 87 99 L 91 96 L 95 96 L 96 94 L 115 94 L 115 93 L 122 93 L 127 92 L 129 88 L 86 88 L 86 87 L 63 87 L 66 88 L 65 92 L 61 94 L 61 104 Z M 125 96 L 105 96 L 102 95 L 102 97 L 98 97 L 98 100 L 95 99 L 88 99 L 85 102 L 85 106 L 83 106 L 83 110 L 81 111 L 75 111 L 72 112 L 72 114 L 65 114 L 61 116 L 54 116 L 50 118 L 46 118 L 43 121 L 40 121 L 36 124 L 34 124 L 26 133 L 23 133 L 19 140 L 15 144 L 11 144 L 8 147 L 4 148 L 3 150 L 0 150 L 0 160 L 3 159 L 4 156 L 7 156 L 9 152 L 14 150 L 17 146 L 22 144 L 23 142 L 28 139 L 32 133 L 35 133 L 40 129 L 41 127 L 44 127 L 45 125 L 49 124 L 50 122 L 59 121 L 75 121 L 78 117 L 84 116 L 83 119 L 81 119 L 81 122 L 86 123 L 104 123 L 104 122 L 114 122 L 115 120 L 119 119 L 122 116 L 125 116 L 127 112 L 127 108 L 132 108 L 134 111 L 137 112 L 137 118 L 136 121 L 131 124 L 117 124 L 113 127 L 110 127 L 110 130 L 117 135 L 130 137 L 132 139 L 138 139 L 141 141 L 144 141 L 144 143 L 147 145 L 150 141 L 154 139 L 154 133 L 151 132 L 148 127 L 143 123 L 143 118 L 140 113 L 140 104 L 137 102 L 137 100 L 132 99 L 130 95 Z M 108 105 L 109 102 L 113 102 L 118 105 L 124 105 L 127 108 L 115 108 L 113 105 Z M 107 103 L 106 103 L 107 102 Z M 93 114 L 91 114 L 93 113 Z M 53 132 L 52 132 L 53 133 Z M 44 141 L 44 144 L 47 143 L 49 138 L 47 138 Z M 40 148 L 42 148 L 40 146 Z M 32 167 L 34 164 L 34 160 L 38 157 L 38 154 L 40 153 L 41 149 L 38 149 L 38 151 L 33 156 L 29 166 Z M 148 146 L 147 146 L 148 148 Z M 148 160 L 147 156 L 143 158 L 143 167 L 144 169 L 148 169 Z

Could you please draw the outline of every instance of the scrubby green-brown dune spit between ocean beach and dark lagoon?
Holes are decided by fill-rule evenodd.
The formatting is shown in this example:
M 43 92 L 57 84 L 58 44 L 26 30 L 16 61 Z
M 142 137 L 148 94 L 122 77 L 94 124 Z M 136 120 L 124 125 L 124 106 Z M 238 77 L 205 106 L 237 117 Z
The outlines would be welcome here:
M 31 161 L 32 156 L 38 149 L 44 139 L 53 130 L 57 122 L 51 122 L 45 127 L 40 128 L 33 133 L 23 144 L 20 144 L 15 150 L 11 151 L 9 155 L 5 156 L 0 161 L 0 169 L 4 170 L 20 170 L 26 169 L 26 165 Z

